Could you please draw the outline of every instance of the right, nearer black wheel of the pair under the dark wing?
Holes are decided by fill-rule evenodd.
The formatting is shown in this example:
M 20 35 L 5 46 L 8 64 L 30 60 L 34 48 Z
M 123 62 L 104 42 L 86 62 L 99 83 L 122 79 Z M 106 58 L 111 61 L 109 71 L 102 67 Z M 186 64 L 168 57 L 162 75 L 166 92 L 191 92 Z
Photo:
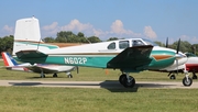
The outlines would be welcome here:
M 128 81 L 128 78 L 124 77 L 123 78 L 123 86 L 125 88 L 133 88 L 135 86 L 135 79 L 132 76 L 129 76 L 129 80 L 130 81 Z

